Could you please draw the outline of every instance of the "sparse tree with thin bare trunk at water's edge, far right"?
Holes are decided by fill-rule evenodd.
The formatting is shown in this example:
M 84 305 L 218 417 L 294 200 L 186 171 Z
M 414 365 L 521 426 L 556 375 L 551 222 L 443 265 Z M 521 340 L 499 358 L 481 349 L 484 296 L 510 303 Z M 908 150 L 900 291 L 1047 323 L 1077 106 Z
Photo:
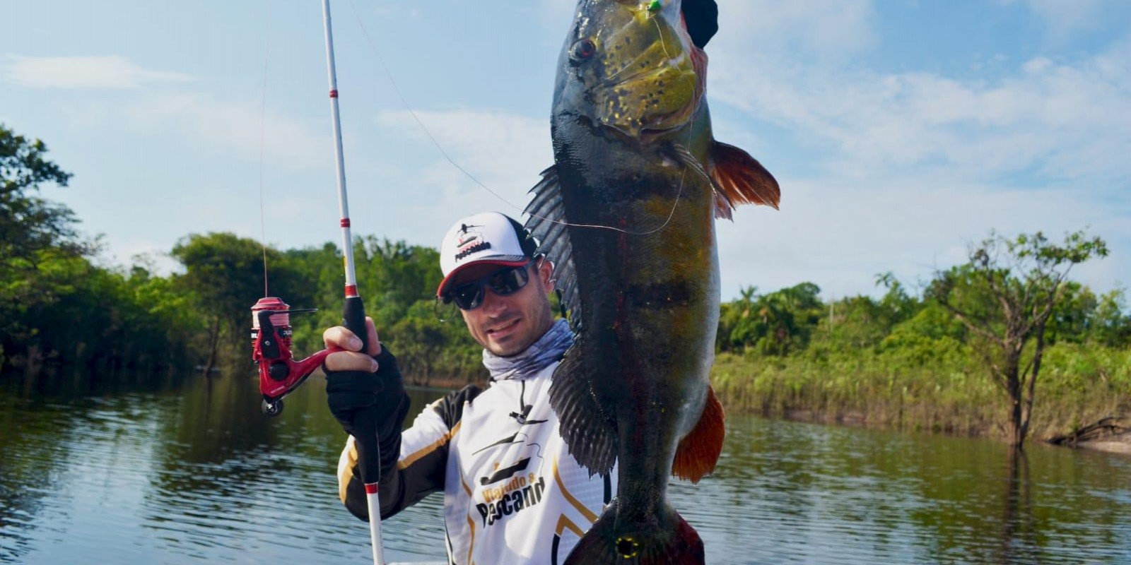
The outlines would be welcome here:
M 1070 288 L 1068 275 L 1076 264 L 1106 255 L 1107 244 L 1083 232 L 1065 235 L 1059 245 L 1041 232 L 1013 240 L 991 233 L 970 247 L 969 262 L 936 272 L 927 289 L 970 331 L 991 377 L 1005 391 L 1010 443 L 1017 449 L 1029 431 L 1045 330 Z

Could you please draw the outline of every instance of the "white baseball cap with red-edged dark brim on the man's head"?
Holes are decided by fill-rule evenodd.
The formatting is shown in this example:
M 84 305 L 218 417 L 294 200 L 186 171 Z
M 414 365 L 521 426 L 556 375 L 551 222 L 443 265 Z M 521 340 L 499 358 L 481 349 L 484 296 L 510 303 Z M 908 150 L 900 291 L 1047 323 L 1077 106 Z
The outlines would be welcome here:
M 460 218 L 440 244 L 443 280 L 435 295 L 442 296 L 451 278 L 468 264 L 518 267 L 534 258 L 537 246 L 523 225 L 506 215 L 491 211 Z

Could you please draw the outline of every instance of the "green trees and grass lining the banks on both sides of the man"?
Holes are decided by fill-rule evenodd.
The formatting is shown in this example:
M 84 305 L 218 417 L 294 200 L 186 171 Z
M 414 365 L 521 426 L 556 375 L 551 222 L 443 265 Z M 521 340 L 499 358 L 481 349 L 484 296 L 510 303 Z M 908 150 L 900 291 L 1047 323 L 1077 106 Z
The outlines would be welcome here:
M 70 179 L 45 154 L 42 142 L 0 125 L 0 372 L 216 367 L 250 376 L 250 307 L 264 295 L 265 257 L 270 295 L 319 308 L 292 316 L 296 355 L 321 348 L 322 329 L 340 320 L 342 255 L 331 243 L 264 250 L 228 233 L 190 234 L 170 250 L 181 272 L 162 276 L 145 258 L 105 264 L 98 241 L 78 234 L 74 214 L 40 197 L 41 184 L 66 186 Z M 988 277 L 978 278 L 978 250 L 1034 241 L 1030 258 L 1061 257 L 1053 272 L 1063 277 L 994 263 L 982 264 Z M 934 273 L 918 290 L 878 276 L 878 297 L 822 299 L 812 282 L 768 293 L 748 287 L 722 305 L 715 388 L 731 410 L 1002 437 L 1016 437 L 1007 415 L 1018 402 L 1031 400 L 1027 433 L 1038 437 L 1131 411 L 1126 295 L 1096 294 L 1063 269 L 1105 254 L 1102 243 L 1083 234 L 1060 246 L 1041 234 L 993 235 L 972 247 L 969 262 Z M 434 301 L 434 249 L 365 236 L 354 255 L 369 313 L 412 383 L 484 377 L 458 312 Z M 1033 314 L 1022 320 L 1025 336 L 1010 330 L 995 287 L 1036 301 L 1022 304 Z M 1047 313 L 1033 310 L 1038 303 L 1051 304 Z M 1012 349 L 995 350 L 987 333 L 1012 336 Z M 1010 382 L 1008 371 L 992 368 L 1010 351 L 1019 379 L 1036 380 L 1035 394 L 1022 386 L 1034 381 Z

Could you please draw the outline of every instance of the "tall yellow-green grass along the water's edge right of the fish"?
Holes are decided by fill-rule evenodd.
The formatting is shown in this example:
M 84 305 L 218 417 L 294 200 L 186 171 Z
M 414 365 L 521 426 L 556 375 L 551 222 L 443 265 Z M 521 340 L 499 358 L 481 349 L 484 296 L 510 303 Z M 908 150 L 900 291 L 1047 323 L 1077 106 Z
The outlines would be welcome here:
M 727 410 L 956 435 L 1007 435 L 1007 395 L 968 347 L 900 353 L 723 353 L 711 382 Z M 1131 348 L 1057 344 L 1036 383 L 1031 434 L 1045 440 L 1131 412 Z

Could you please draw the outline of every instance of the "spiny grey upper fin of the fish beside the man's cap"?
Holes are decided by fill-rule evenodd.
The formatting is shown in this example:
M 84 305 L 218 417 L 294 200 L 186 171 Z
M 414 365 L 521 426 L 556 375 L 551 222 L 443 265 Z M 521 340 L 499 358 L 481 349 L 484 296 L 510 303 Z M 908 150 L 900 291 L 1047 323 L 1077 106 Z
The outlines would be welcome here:
M 577 269 L 573 267 L 573 247 L 566 229 L 566 209 L 562 205 L 558 169 L 550 166 L 542 172 L 542 181 L 530 189 L 534 200 L 523 214 L 530 217 L 526 228 L 538 240 L 538 253 L 545 253 L 554 264 L 554 287 L 561 290 L 562 306 L 573 333 L 581 329 L 581 299 L 577 288 Z

